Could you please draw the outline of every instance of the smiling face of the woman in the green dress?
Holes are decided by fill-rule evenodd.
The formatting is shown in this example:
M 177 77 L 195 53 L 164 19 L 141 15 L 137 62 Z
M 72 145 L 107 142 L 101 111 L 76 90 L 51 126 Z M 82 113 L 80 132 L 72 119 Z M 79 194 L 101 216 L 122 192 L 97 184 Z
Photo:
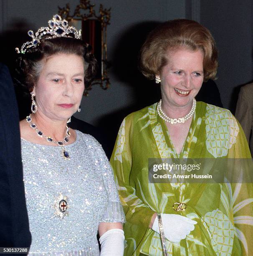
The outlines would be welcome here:
M 167 54 L 168 63 L 160 73 L 162 100 L 170 106 L 191 106 L 203 78 L 204 53 L 180 48 Z

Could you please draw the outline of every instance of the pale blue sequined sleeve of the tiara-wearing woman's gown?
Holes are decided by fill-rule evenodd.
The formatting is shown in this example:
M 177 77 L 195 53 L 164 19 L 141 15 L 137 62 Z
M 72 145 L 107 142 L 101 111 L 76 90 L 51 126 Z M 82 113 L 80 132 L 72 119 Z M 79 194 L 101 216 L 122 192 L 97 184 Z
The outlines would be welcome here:
M 114 176 L 112 174 L 111 165 L 109 160 L 104 153 L 103 148 L 98 141 L 89 135 L 90 140 L 87 140 L 88 147 L 91 149 L 91 154 L 95 157 L 95 161 L 98 165 L 99 171 L 103 176 L 104 185 L 106 187 L 107 194 L 107 207 L 104 216 L 101 218 L 100 222 L 125 222 L 125 214 L 119 200 L 119 195 L 114 182 Z

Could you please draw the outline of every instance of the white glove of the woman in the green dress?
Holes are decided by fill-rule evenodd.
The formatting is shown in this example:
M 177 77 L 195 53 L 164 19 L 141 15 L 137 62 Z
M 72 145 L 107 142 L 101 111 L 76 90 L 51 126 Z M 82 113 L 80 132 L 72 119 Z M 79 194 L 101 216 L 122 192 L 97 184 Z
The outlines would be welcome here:
M 174 243 L 180 242 L 180 240 L 185 239 L 186 236 L 189 235 L 192 230 L 194 230 L 194 225 L 197 224 L 195 220 L 191 220 L 190 218 L 177 214 L 161 213 L 161 217 L 164 229 L 164 236 L 170 242 Z M 157 217 L 154 220 L 152 229 L 155 232 L 160 233 Z

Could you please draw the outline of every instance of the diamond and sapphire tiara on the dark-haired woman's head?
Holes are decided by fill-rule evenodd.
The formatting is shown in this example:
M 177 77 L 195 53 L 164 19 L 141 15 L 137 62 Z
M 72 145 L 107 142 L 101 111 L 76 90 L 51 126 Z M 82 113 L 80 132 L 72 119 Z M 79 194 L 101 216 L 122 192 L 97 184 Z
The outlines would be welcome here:
M 32 30 L 28 31 L 28 36 L 33 38 L 32 41 L 28 41 L 21 46 L 21 49 L 15 48 L 17 53 L 25 54 L 30 48 L 35 48 L 40 44 L 40 39 L 57 38 L 57 37 L 72 37 L 81 39 L 81 30 L 77 30 L 75 27 L 68 26 L 67 20 L 62 20 L 61 16 L 56 14 L 53 15 L 53 19 L 48 21 L 49 27 L 41 27 L 38 31 L 33 33 Z M 70 34 L 73 34 L 71 36 Z

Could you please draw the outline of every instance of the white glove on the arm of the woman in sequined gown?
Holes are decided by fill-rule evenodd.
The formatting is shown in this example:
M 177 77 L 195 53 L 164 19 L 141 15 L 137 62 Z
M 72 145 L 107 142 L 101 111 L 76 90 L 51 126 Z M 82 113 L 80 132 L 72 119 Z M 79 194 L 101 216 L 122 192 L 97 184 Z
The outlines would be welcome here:
M 100 238 L 100 256 L 123 256 L 124 254 L 124 231 L 119 228 L 107 230 Z

